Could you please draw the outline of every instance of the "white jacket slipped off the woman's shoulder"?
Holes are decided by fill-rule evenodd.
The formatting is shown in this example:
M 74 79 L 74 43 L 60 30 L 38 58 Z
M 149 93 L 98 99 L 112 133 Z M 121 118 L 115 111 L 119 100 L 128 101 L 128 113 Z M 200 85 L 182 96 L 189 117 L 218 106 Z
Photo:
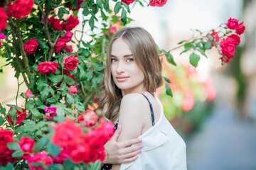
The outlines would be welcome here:
M 142 152 L 131 163 L 122 164 L 120 170 L 186 170 L 186 144 L 178 135 L 171 123 L 164 116 L 161 101 L 156 97 L 161 106 L 159 121 L 144 132 L 142 139 Z

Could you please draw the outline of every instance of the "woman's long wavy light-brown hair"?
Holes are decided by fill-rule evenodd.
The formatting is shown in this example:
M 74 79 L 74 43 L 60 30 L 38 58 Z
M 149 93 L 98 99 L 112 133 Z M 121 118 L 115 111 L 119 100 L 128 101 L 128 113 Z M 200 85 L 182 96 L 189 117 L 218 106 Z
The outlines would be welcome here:
M 122 28 L 114 34 L 107 51 L 105 75 L 102 81 L 99 108 L 102 115 L 115 122 L 119 117 L 119 108 L 122 101 L 121 90 L 114 84 L 111 75 L 111 53 L 115 40 L 122 38 L 132 51 L 134 61 L 144 74 L 144 87 L 153 94 L 156 88 L 163 84 L 161 77 L 161 61 L 156 42 L 144 28 Z

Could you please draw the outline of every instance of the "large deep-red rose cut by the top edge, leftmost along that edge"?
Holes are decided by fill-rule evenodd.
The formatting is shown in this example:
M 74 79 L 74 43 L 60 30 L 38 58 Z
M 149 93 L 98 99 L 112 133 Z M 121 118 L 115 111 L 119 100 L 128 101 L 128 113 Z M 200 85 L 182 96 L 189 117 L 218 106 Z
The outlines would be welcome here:
M 16 0 L 13 4 L 10 4 L 7 8 L 7 14 L 14 18 L 24 18 L 31 13 L 33 8 L 33 0 Z

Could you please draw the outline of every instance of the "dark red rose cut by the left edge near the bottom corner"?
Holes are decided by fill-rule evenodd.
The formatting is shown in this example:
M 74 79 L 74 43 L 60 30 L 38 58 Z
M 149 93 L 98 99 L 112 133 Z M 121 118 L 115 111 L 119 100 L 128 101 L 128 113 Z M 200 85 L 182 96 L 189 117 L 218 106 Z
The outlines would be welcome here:
M 7 143 L 14 142 L 14 134 L 10 130 L 4 130 L 0 128 L 0 164 L 6 165 L 9 162 L 13 163 L 16 161 L 11 154 L 13 150 L 7 147 Z

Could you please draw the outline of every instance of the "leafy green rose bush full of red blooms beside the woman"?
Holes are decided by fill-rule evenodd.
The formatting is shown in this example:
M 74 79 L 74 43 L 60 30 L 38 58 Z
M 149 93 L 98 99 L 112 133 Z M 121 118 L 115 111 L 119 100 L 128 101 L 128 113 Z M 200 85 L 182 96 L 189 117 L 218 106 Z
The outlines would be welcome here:
M 95 96 L 103 77 L 107 45 L 112 35 L 131 21 L 127 18 L 129 5 L 137 2 L 166 4 L 158 0 L 113 1 L 111 9 L 109 1 L 102 0 L 1 1 L 0 52 L 14 67 L 15 77 L 22 77 L 26 92 L 18 88 L 22 106 L 17 102 L 5 107 L 0 104 L 0 168 L 99 169 L 113 124 L 93 111 Z M 97 21 L 100 26 L 96 26 Z M 205 55 L 206 50 L 218 47 L 221 59 L 229 61 L 225 57 L 231 58 L 231 46 L 239 44 L 245 27 L 233 19 L 222 28 L 226 31 L 214 30 L 213 34 L 210 30 L 192 41 L 180 42 L 183 52 L 195 50 Z M 171 51 L 159 52 L 176 64 Z M 199 61 L 196 52 L 190 57 L 195 67 Z M 165 80 L 166 94 L 171 96 L 170 81 Z M 193 100 L 187 96 L 186 101 Z M 184 104 L 183 108 L 191 106 Z

